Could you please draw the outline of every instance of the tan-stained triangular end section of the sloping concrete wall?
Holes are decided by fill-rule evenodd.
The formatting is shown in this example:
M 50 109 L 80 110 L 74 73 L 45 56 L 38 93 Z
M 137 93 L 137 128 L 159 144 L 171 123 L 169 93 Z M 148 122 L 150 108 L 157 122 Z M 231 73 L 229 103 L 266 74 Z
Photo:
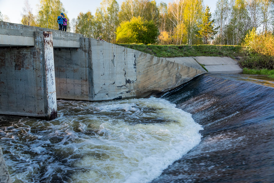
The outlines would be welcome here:
M 187 67 L 176 62 L 154 57 L 142 52 L 136 52 L 137 63 L 137 96 L 146 93 L 166 92 L 195 76 L 205 73 L 203 70 Z

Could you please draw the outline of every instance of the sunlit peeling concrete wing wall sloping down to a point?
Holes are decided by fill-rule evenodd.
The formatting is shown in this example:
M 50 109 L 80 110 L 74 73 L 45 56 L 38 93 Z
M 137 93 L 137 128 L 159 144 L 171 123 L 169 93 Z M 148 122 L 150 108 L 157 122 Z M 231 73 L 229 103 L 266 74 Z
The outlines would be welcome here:
M 204 71 L 91 39 L 94 100 L 166 92 Z

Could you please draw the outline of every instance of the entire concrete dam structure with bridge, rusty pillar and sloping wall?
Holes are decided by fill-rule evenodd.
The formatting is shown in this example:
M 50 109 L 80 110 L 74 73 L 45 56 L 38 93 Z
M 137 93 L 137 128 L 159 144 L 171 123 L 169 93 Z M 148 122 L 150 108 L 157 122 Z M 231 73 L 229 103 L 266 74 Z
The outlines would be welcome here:
M 147 97 L 205 72 L 82 34 L 0 22 L 0 114 L 51 120 L 57 99 Z

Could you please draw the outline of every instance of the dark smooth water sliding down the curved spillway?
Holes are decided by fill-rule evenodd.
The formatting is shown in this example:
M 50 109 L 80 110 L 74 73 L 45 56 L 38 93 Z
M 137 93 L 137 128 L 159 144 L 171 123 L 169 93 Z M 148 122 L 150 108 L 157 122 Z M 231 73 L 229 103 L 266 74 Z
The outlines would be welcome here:
M 201 143 L 152 183 L 274 180 L 274 79 L 206 74 L 164 99 L 203 126 Z

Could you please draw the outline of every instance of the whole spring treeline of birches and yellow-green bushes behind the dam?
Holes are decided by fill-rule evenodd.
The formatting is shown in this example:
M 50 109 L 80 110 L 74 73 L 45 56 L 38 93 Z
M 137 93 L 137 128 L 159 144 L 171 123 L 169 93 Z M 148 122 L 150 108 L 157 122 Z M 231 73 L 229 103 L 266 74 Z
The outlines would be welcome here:
M 102 35 L 111 43 L 241 45 L 253 28 L 274 34 L 274 0 L 218 0 L 215 12 L 209 11 L 203 0 L 170 0 L 168 4 L 124 0 L 121 5 L 116 0 L 103 0 L 94 15 L 80 12 L 70 20 L 60 0 L 41 0 L 38 15 L 33 15 L 25 0 L 21 23 L 58 29 L 56 18 L 63 12 L 68 31 L 93 38 Z M 209 23 L 215 32 L 201 36 L 199 31 Z

